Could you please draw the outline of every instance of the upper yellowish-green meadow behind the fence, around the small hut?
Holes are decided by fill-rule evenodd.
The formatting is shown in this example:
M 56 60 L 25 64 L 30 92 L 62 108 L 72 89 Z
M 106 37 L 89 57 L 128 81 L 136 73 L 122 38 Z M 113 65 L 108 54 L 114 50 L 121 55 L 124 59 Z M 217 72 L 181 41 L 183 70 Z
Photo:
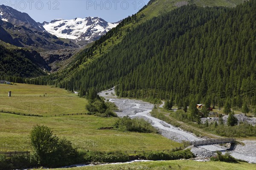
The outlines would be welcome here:
M 12 96 L 8 97 L 8 91 Z M 60 88 L 46 85 L 0 84 L 0 110 L 43 116 L 85 113 L 86 99 Z

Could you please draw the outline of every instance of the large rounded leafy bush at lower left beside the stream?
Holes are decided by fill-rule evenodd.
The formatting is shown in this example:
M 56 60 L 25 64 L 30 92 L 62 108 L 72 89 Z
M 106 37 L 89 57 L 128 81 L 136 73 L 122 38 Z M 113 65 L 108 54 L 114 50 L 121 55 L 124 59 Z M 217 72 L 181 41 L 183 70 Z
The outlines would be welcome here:
M 35 126 L 31 131 L 32 146 L 41 166 L 59 167 L 76 163 L 79 153 L 66 139 L 59 139 L 49 127 Z

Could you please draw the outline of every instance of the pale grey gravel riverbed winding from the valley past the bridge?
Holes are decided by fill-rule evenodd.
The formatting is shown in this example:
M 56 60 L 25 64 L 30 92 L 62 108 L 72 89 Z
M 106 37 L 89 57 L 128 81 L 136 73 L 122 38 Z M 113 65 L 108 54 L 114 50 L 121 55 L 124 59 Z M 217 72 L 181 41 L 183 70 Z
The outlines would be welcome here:
M 99 93 L 99 95 L 105 97 L 106 99 L 109 99 L 110 102 L 116 104 L 116 106 L 119 108 L 119 111 L 116 111 L 116 114 L 119 117 L 130 116 L 131 118 L 143 118 L 146 121 L 150 122 L 152 126 L 157 128 L 158 131 L 168 139 L 172 139 L 176 142 L 202 140 L 201 138 L 198 138 L 192 133 L 186 132 L 178 127 L 174 127 L 166 122 L 163 122 L 160 119 L 151 116 L 150 112 L 154 108 L 154 105 L 148 102 L 134 99 L 117 98 L 114 93 L 114 88 L 108 91 L 102 91 Z M 245 146 L 237 145 L 236 149 L 230 152 L 231 155 L 234 156 L 236 159 L 242 159 L 250 163 L 256 163 L 256 140 L 254 140 L 253 142 L 244 142 L 244 144 Z M 226 152 L 226 150 L 218 145 L 201 146 L 199 148 L 201 149 L 194 150 L 200 150 L 200 152 L 202 153 L 207 153 L 207 156 L 209 156 L 209 154 L 205 150 L 208 150 L 210 152 L 220 150 L 223 154 Z M 198 155 L 200 155 L 200 152 L 198 151 Z M 201 157 L 206 156 L 204 156 L 204 154 L 201 154 Z

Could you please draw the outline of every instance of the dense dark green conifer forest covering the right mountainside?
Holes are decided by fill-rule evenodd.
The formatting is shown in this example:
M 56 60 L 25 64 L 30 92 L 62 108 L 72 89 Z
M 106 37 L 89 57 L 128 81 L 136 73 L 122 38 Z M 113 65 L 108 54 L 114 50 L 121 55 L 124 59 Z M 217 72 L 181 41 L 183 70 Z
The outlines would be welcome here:
M 145 21 L 96 61 L 95 51 L 84 52 L 86 65 L 60 87 L 84 95 L 118 85 L 119 96 L 174 98 L 183 106 L 206 98 L 255 105 L 255 8 L 253 0 L 236 8 L 183 6 Z

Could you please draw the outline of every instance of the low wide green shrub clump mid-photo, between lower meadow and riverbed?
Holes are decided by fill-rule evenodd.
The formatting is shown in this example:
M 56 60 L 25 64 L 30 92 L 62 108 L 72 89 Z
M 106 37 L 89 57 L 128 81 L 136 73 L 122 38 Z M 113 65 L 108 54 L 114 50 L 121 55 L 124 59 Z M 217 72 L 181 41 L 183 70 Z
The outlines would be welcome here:
M 157 133 L 157 130 L 147 121 L 141 118 L 131 119 L 128 116 L 119 118 L 114 127 L 122 131 L 141 132 L 141 133 Z

